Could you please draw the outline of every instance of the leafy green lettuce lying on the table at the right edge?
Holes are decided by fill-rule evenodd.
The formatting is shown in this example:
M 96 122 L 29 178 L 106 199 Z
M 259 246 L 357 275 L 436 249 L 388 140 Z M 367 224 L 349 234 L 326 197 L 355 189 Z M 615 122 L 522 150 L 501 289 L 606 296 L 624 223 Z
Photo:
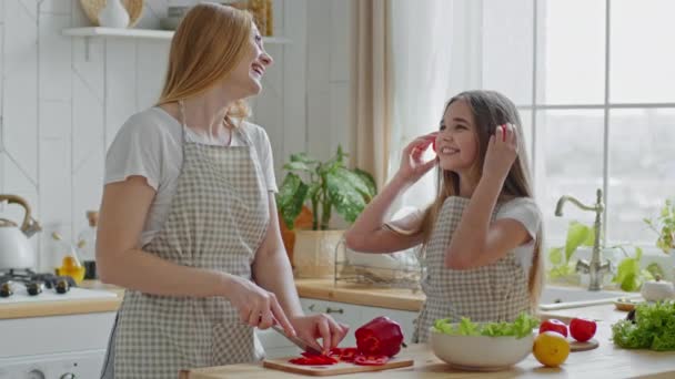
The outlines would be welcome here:
M 625 349 L 675 350 L 675 303 L 638 304 L 635 324 L 621 320 L 612 334 L 614 344 Z

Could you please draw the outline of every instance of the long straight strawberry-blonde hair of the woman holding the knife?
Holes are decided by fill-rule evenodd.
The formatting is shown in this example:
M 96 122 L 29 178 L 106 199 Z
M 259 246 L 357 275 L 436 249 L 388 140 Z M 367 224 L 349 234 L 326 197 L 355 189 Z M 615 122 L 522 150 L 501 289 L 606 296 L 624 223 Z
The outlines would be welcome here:
M 253 18 L 246 11 L 200 3 L 185 14 L 171 41 L 169 66 L 158 105 L 202 94 L 221 83 L 249 52 Z M 245 119 L 249 106 L 239 100 L 231 117 Z

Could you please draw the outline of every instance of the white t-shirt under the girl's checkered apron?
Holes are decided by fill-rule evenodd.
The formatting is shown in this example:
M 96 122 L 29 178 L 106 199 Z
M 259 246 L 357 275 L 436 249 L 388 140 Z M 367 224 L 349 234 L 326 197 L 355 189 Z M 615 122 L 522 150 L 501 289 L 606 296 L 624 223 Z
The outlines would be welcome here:
M 414 209 L 404 217 L 390 221 L 384 225 L 390 229 L 403 234 L 411 235 L 416 233 L 422 226 L 422 217 L 424 212 Z M 495 219 L 511 218 L 515 219 L 525 227 L 532 240 L 513 249 L 518 262 L 525 269 L 532 267 L 532 257 L 534 256 L 534 245 L 536 243 L 537 233 L 542 227 L 542 213 L 538 206 L 531 197 L 516 197 L 502 204 L 500 211 L 495 215 Z

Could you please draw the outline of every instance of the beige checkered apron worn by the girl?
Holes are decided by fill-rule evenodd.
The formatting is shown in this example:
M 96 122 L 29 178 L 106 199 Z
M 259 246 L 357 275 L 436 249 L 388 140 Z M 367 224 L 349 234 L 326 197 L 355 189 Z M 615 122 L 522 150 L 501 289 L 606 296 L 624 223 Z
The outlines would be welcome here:
M 426 270 L 422 290 L 426 300 L 417 318 L 414 341 L 426 342 L 429 329 L 439 318 L 511 321 L 521 311 L 531 311 L 528 275 L 513 252 L 483 267 L 445 268 L 445 252 L 467 204 L 469 198 L 451 196 L 439 213 L 424 253 Z M 493 219 L 497 209 L 493 213 Z

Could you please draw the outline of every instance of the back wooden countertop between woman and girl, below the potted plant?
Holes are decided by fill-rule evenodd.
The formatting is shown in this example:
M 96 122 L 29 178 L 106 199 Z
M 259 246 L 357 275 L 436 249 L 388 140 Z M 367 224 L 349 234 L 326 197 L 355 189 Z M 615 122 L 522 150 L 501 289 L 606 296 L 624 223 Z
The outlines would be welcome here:
M 295 288 L 300 297 L 412 311 L 422 309 L 425 298 L 421 290 L 334 284 L 330 279 L 295 279 Z

